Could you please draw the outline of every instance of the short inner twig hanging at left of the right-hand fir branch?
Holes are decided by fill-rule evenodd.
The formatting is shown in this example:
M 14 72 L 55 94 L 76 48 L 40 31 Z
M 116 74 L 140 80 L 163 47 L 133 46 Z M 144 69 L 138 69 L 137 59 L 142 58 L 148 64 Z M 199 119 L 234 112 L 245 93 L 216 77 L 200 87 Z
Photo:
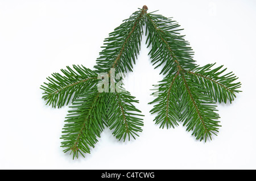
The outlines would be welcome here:
M 165 125 L 168 127 L 173 127 L 178 125 L 177 120 L 179 120 L 179 105 L 177 104 L 179 90 L 179 71 L 176 75 L 168 75 L 160 81 L 158 87 L 158 92 L 154 92 L 153 95 L 157 94 L 152 103 L 158 103 L 152 108 L 151 113 L 158 113 L 154 121 L 156 124 L 160 124 L 160 128 L 164 128 Z

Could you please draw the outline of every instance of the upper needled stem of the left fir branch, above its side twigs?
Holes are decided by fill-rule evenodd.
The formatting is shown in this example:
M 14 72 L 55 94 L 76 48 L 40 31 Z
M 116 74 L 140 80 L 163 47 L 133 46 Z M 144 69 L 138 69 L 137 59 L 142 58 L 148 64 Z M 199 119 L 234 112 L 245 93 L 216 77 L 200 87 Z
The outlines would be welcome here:
M 146 9 L 135 11 L 129 19 L 124 20 L 109 37 L 104 40 L 104 48 L 97 58 L 97 73 L 109 72 L 115 68 L 117 72 L 132 71 L 133 63 L 141 47 L 143 33 L 143 17 Z

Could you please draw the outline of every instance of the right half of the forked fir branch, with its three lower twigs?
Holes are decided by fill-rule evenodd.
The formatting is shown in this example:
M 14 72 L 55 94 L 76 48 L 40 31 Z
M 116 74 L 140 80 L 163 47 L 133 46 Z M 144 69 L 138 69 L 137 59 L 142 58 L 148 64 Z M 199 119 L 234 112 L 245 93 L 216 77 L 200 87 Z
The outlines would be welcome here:
M 214 64 L 196 65 L 192 49 L 184 36 L 179 35 L 181 29 L 177 29 L 179 24 L 174 20 L 151 13 L 145 19 L 147 43 L 152 47 L 151 62 L 157 64 L 155 68 L 162 66 L 160 74 L 166 74 L 159 82 L 159 92 L 154 92 L 158 93 L 157 98 L 150 102 L 156 104 L 150 111 L 157 113 L 155 123 L 160 128 L 174 128 L 181 121 L 196 139 L 211 139 L 220 127 L 217 121 L 220 116 L 213 103 L 232 102 L 235 93 L 240 92 L 241 83 L 234 83 L 237 79 L 234 74 L 220 75 L 226 70 L 220 70 L 222 66 L 211 70 Z

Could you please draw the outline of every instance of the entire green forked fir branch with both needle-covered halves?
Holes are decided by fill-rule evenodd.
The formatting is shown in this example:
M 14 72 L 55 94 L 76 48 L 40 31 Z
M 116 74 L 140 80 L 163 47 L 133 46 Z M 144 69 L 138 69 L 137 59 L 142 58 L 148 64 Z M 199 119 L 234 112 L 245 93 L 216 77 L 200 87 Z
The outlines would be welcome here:
M 155 104 L 150 112 L 156 114 L 154 121 L 160 128 L 175 128 L 181 122 L 197 140 L 207 141 L 212 134 L 217 135 L 220 127 L 215 103 L 228 100 L 231 103 L 241 92 L 238 90 L 241 83 L 236 82 L 232 72 L 225 74 L 222 66 L 212 69 L 215 64 L 195 64 L 193 50 L 180 35 L 182 29 L 177 22 L 154 12 L 147 13 L 147 7 L 143 6 L 109 33 L 95 70 L 67 66 L 67 70 L 61 69 L 64 75 L 53 73 L 47 78 L 49 83 L 40 87 L 44 90 L 43 99 L 52 107 L 72 103 L 61 147 L 73 154 L 73 158 L 90 153 L 106 126 L 123 141 L 135 139 L 138 132 L 142 132 L 143 115 L 134 106 L 138 100 L 119 85 L 112 92 L 110 85 L 117 83 L 112 69 L 115 69 L 114 77 L 117 73 L 133 71 L 144 25 L 151 62 L 155 68 L 162 68 L 160 74 L 164 75 L 156 85 L 158 91 L 152 94 L 156 98 L 150 102 Z M 97 88 L 103 86 L 98 79 L 100 73 L 108 75 L 104 79 L 110 78 L 110 92 L 98 91 Z

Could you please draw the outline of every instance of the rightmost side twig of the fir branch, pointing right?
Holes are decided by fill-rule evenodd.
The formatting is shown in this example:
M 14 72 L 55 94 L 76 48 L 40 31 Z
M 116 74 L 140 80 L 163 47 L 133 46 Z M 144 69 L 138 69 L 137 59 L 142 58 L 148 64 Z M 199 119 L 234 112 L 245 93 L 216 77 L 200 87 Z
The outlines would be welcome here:
M 209 95 L 217 102 L 230 103 L 236 98 L 236 93 L 241 87 L 241 82 L 234 82 L 238 78 L 232 72 L 223 74 L 226 69 L 222 69 L 223 65 L 215 69 L 211 69 L 215 64 L 208 64 L 198 67 L 194 71 L 188 71 L 193 79 L 209 90 Z

